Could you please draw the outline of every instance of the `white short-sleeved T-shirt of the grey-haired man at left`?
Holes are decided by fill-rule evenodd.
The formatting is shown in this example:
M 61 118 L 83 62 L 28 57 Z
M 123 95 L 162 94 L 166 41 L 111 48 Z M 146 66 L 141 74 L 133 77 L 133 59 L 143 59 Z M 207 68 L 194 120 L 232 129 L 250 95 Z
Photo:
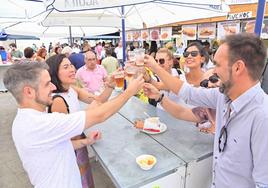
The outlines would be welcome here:
M 12 137 L 35 188 L 82 188 L 71 138 L 83 132 L 85 112 L 18 109 Z

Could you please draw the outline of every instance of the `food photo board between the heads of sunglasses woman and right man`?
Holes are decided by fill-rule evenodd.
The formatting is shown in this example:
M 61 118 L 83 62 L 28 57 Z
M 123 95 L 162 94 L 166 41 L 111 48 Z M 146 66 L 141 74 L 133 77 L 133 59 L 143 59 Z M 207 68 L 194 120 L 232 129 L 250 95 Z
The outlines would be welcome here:
M 216 36 L 216 23 L 198 24 L 198 39 L 214 39 Z

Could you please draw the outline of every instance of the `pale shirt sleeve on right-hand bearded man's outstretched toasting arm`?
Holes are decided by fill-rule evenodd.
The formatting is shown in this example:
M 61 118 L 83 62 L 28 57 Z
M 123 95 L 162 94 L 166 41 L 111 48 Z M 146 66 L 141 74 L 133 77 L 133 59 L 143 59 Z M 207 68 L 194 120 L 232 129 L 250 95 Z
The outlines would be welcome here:
M 184 82 L 177 95 L 188 104 L 216 109 L 217 100 L 221 93 L 218 88 L 196 88 Z

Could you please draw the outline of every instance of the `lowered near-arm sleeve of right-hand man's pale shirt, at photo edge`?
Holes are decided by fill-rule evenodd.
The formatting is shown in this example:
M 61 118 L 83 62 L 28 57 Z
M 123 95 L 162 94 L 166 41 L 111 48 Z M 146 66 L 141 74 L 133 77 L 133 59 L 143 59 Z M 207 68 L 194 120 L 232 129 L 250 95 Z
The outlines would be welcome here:
M 268 116 L 256 119 L 251 137 L 252 176 L 257 187 L 268 187 Z

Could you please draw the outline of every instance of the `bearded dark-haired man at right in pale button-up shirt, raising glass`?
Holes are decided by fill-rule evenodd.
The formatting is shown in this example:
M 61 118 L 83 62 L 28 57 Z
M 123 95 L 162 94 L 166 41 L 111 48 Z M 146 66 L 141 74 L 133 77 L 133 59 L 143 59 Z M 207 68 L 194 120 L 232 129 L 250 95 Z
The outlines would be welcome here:
M 220 89 L 203 89 L 145 58 L 146 66 L 187 103 L 216 109 L 212 187 L 268 187 L 268 96 L 259 82 L 265 60 L 266 47 L 257 36 L 230 35 L 214 57 Z M 144 89 L 150 94 L 149 87 Z M 161 95 L 158 101 L 165 103 L 165 98 Z

